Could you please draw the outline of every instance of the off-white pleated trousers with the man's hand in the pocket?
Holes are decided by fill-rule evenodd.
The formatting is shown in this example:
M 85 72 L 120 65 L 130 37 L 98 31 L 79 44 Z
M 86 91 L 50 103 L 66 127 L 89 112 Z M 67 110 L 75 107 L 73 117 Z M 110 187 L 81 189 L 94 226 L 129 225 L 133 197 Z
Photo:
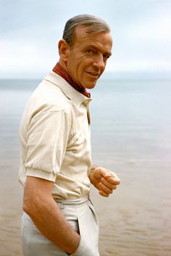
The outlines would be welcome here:
M 57 203 L 72 228 L 80 234 L 78 249 L 71 256 L 100 256 L 99 222 L 88 197 L 79 200 L 58 199 Z M 67 256 L 66 252 L 41 234 L 25 212 L 22 215 L 21 236 L 24 256 Z

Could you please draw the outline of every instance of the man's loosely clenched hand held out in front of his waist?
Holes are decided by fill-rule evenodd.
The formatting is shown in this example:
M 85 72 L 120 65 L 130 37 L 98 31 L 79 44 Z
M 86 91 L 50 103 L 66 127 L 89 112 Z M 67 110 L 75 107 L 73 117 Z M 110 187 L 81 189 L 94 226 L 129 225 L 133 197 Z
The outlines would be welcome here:
M 102 167 L 91 166 L 89 178 L 102 197 L 109 197 L 109 194 L 112 194 L 120 184 L 120 179 L 115 173 Z

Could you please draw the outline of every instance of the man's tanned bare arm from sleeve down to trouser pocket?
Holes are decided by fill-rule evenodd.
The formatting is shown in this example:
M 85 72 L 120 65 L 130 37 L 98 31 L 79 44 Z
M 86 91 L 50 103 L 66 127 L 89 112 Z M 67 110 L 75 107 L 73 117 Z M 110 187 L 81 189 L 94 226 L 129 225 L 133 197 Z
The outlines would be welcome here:
M 42 178 L 27 177 L 23 199 L 23 210 L 47 239 L 72 254 L 80 243 L 76 233 L 62 215 L 51 196 L 54 183 Z

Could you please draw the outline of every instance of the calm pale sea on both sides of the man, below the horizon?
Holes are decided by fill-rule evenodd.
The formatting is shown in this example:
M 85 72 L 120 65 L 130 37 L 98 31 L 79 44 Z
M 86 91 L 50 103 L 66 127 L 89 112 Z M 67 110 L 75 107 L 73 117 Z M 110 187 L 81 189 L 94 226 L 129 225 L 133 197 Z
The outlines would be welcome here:
M 21 256 L 19 125 L 41 80 L 0 80 L 0 255 Z M 99 80 L 91 92 L 92 161 L 117 173 L 92 188 L 101 256 L 171 256 L 171 80 Z

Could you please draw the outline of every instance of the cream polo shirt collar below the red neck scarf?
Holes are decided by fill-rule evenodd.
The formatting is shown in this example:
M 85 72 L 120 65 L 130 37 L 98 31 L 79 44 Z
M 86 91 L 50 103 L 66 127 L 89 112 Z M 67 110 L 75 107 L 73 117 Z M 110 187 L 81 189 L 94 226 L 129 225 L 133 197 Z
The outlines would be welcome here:
M 68 99 L 70 99 L 75 104 L 84 104 L 86 107 L 91 102 L 91 98 L 86 97 L 85 95 L 81 94 L 79 91 L 75 90 L 72 86 L 70 86 L 70 83 L 67 83 L 64 78 L 62 78 L 60 75 L 57 75 L 57 73 L 54 73 L 51 71 L 49 75 L 46 76 L 45 80 L 48 80 L 51 83 L 54 83 L 56 86 L 58 86 L 65 96 L 67 96 Z

